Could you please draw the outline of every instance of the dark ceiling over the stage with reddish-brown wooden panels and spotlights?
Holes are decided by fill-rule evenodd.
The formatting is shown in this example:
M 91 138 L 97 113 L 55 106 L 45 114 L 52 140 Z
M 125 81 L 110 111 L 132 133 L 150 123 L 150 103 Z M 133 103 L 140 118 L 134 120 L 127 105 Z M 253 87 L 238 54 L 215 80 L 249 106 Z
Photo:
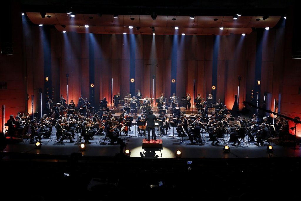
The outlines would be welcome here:
M 156 34 L 172 35 L 250 34 L 254 28 L 276 27 L 294 4 L 293 0 L 21 2 L 22 11 L 31 22 L 54 25 L 58 31 L 152 34 L 155 30 Z M 70 17 L 67 12 L 76 13 L 76 16 Z M 242 16 L 233 19 L 237 13 Z M 114 14 L 118 14 L 118 18 L 114 18 Z M 195 18 L 190 19 L 191 15 Z M 269 17 L 262 20 L 264 16 Z M 129 26 L 134 29 L 129 30 Z

